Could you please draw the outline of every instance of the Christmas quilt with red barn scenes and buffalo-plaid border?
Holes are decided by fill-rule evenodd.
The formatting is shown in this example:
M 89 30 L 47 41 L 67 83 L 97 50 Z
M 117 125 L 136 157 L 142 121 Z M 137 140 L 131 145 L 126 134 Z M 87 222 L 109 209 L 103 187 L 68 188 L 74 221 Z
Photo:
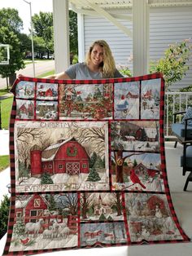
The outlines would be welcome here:
M 11 91 L 4 255 L 190 241 L 168 188 L 160 73 L 20 77 Z

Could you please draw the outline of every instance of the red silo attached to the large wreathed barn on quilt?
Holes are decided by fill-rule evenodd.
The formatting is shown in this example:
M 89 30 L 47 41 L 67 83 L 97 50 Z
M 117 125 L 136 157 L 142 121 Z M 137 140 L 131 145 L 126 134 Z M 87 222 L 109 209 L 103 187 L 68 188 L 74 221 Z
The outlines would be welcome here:
M 41 148 L 34 145 L 30 150 L 31 157 L 31 175 L 32 177 L 41 177 Z

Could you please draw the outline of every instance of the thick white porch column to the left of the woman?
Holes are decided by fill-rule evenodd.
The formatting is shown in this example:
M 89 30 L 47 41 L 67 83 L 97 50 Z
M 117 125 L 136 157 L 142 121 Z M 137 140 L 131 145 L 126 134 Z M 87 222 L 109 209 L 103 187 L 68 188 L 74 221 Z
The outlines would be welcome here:
M 53 0 L 55 73 L 70 65 L 68 0 Z

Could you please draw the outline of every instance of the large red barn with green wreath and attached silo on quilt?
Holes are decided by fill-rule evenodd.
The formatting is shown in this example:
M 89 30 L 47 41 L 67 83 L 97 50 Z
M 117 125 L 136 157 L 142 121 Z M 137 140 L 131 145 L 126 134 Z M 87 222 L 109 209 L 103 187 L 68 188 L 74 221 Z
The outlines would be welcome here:
M 37 146 L 31 149 L 31 175 L 89 173 L 89 156 L 76 139 L 59 141 L 41 151 Z

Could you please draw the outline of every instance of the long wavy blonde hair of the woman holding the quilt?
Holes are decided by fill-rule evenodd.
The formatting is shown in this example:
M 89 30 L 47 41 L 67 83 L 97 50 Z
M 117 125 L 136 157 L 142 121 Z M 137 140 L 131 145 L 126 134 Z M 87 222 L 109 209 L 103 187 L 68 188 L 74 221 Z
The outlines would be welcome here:
M 115 63 L 115 60 L 111 53 L 111 49 L 110 49 L 109 45 L 104 40 L 97 40 L 92 43 L 92 45 L 89 47 L 89 51 L 87 52 L 87 54 L 85 56 L 85 64 L 87 64 L 87 65 L 89 64 L 89 62 L 91 60 L 90 55 L 91 55 L 91 52 L 93 51 L 95 45 L 103 47 L 103 63 L 100 64 L 100 68 L 101 68 L 101 72 L 103 73 L 103 77 L 105 77 L 105 78 L 114 77 L 115 71 L 116 71 L 116 63 Z

